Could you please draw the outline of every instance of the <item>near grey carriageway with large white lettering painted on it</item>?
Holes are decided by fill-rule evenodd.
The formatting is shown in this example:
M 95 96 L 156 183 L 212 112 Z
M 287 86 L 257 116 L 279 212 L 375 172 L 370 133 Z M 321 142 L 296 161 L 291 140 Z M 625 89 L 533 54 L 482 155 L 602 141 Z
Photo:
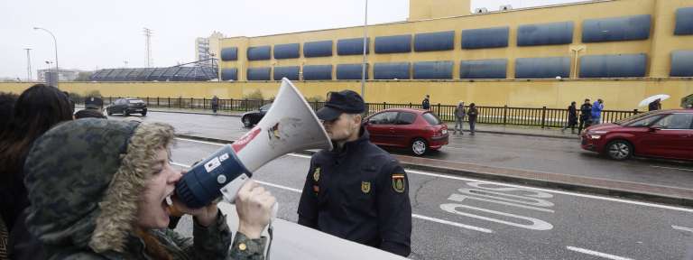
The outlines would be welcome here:
M 219 145 L 179 138 L 172 161 L 184 167 Z M 279 200 L 278 218 L 298 219 L 309 164 L 309 156 L 289 154 L 255 172 Z M 685 256 L 693 209 L 407 172 L 411 259 L 693 259 Z M 184 219 L 179 230 L 189 225 Z

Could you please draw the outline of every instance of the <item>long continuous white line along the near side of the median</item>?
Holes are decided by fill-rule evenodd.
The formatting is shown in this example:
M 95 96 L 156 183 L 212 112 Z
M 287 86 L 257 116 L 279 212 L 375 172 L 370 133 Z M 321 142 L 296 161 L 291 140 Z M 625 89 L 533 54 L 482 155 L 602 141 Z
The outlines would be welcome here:
M 203 141 L 197 141 L 197 140 L 189 140 L 189 139 L 182 139 L 182 138 L 177 138 L 177 139 L 181 139 L 181 140 L 184 140 L 184 141 L 190 141 L 190 142 L 198 142 L 198 143 L 203 143 L 203 144 L 224 145 L 224 144 L 215 144 L 215 143 L 209 143 L 209 142 L 203 142 Z M 287 154 L 287 155 L 288 155 L 288 156 L 293 156 L 293 157 L 306 158 L 306 159 L 310 159 L 310 157 L 311 157 L 310 155 L 299 154 L 299 153 L 289 153 L 289 154 Z M 653 203 L 642 202 L 642 201 L 636 201 L 636 200 L 623 200 L 623 199 L 615 199 L 615 198 L 610 198 L 610 197 L 599 197 L 599 196 L 595 196 L 595 195 L 587 195 L 587 194 L 581 194 L 581 193 L 570 192 L 570 191 L 542 189 L 542 188 L 535 188 L 535 187 L 530 187 L 530 186 L 523 186 L 523 185 L 517 185 L 517 184 L 510 184 L 510 183 L 497 182 L 497 181 L 485 181 L 485 180 L 470 179 L 470 178 L 465 178 L 465 177 L 449 176 L 449 175 L 444 175 L 444 174 L 439 174 L 439 173 L 422 172 L 422 171 L 411 170 L 411 169 L 406 169 L 406 171 L 407 171 L 408 173 L 426 175 L 426 176 L 437 177 L 437 178 L 443 178 L 443 179 L 450 179 L 450 180 L 457 180 L 457 181 L 483 181 L 483 182 L 485 182 L 485 183 L 491 183 L 491 184 L 496 184 L 496 185 L 504 185 L 504 186 L 507 186 L 507 187 L 522 188 L 522 189 L 527 189 L 527 190 L 541 190 L 541 191 L 546 191 L 546 192 L 552 192 L 552 193 L 557 193 L 557 194 L 570 195 L 570 196 L 576 196 L 576 197 L 582 197 L 582 198 L 588 198 L 588 199 L 594 199 L 594 200 L 607 200 L 607 201 L 620 202 L 620 203 L 626 203 L 626 204 L 633 204 L 633 205 L 639 205 L 639 206 L 645 206 L 645 207 L 652 207 L 652 208 L 659 208 L 659 209 L 670 209 L 670 210 L 677 210 L 677 211 L 683 211 L 683 212 L 693 213 L 693 209 L 679 208 L 679 207 L 666 206 L 666 205 L 660 205 L 660 204 L 653 204 Z

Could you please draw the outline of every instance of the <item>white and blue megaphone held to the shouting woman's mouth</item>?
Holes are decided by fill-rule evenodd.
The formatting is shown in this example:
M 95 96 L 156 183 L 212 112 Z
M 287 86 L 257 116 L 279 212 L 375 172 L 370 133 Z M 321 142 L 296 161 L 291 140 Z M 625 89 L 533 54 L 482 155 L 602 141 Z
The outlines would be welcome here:
M 234 144 L 193 165 L 176 183 L 176 196 L 191 209 L 222 196 L 233 203 L 255 170 L 286 153 L 308 149 L 331 150 L 332 142 L 306 99 L 284 78 L 263 120 Z

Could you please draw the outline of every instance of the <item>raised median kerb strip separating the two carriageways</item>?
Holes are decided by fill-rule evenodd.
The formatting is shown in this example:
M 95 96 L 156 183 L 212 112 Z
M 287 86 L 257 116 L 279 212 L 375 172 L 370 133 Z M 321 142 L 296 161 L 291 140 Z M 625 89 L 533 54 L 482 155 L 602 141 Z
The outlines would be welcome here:
M 233 144 L 234 143 L 234 141 L 217 139 L 217 138 L 210 138 L 210 137 L 201 137 L 201 136 L 196 136 L 196 135 L 176 135 L 176 136 L 181 137 L 181 138 L 186 138 L 186 139 L 206 141 L 206 142 L 215 142 L 215 143 L 220 143 L 220 144 Z M 306 155 L 312 155 L 314 152 L 300 151 L 298 153 L 306 154 Z M 683 207 L 693 208 L 693 198 L 677 198 L 677 197 L 671 196 L 670 194 L 661 194 L 661 193 L 656 193 L 656 192 L 633 191 L 633 190 L 621 190 L 621 189 L 614 189 L 614 188 L 610 188 L 610 187 L 600 187 L 600 186 L 595 186 L 595 185 L 575 184 L 575 183 L 568 183 L 568 182 L 563 182 L 563 181 L 547 181 L 547 180 L 540 180 L 540 179 L 533 179 L 533 178 L 522 178 L 522 177 L 509 176 L 509 175 L 505 175 L 502 173 L 494 173 L 494 172 L 479 172 L 479 171 L 471 171 L 471 170 L 464 170 L 464 169 L 452 169 L 452 168 L 448 168 L 448 167 L 439 167 L 439 166 L 434 166 L 434 165 L 423 165 L 420 163 L 407 162 L 407 161 L 411 161 L 409 156 L 396 155 L 396 154 L 393 154 L 393 156 L 396 157 L 400 161 L 400 163 L 402 164 L 402 166 L 404 168 L 409 168 L 409 169 L 413 169 L 413 170 L 440 172 L 440 173 L 447 173 L 450 175 L 455 175 L 458 177 L 477 178 L 477 179 L 483 179 L 483 180 L 487 180 L 487 181 L 512 182 L 512 183 L 525 184 L 525 185 L 536 186 L 536 187 L 541 187 L 541 188 L 552 188 L 552 189 L 557 189 L 557 190 L 572 190 L 572 191 L 577 191 L 577 192 L 585 192 L 585 193 L 592 193 L 592 194 L 598 194 L 598 195 L 606 195 L 606 196 L 610 196 L 610 197 L 618 197 L 618 198 L 622 198 L 622 199 L 642 200 L 642 201 L 648 201 L 648 202 L 654 202 L 654 203 L 660 203 L 660 204 L 669 204 L 669 205 L 674 205 L 674 206 L 683 206 Z M 546 174 L 556 174 L 556 173 L 546 173 Z M 589 179 L 589 178 L 586 178 L 586 179 Z M 594 179 L 594 180 L 599 180 L 599 179 Z M 624 182 L 624 181 L 616 181 L 616 182 Z M 642 185 L 647 185 L 647 184 L 642 184 Z M 655 186 L 655 185 L 649 185 L 649 186 L 651 186 L 653 188 L 661 187 L 661 186 Z M 683 190 L 683 189 L 677 188 L 677 190 Z

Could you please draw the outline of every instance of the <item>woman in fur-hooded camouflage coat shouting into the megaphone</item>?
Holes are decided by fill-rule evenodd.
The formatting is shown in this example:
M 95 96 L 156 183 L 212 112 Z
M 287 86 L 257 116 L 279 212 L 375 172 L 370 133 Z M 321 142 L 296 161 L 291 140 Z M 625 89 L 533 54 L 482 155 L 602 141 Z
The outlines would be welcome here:
M 171 125 L 87 118 L 36 140 L 26 224 L 46 259 L 263 259 L 274 197 L 243 185 L 232 244 L 216 202 L 189 209 L 175 194 L 185 172 L 171 166 L 174 139 Z M 171 212 L 192 216 L 192 237 L 167 228 Z

